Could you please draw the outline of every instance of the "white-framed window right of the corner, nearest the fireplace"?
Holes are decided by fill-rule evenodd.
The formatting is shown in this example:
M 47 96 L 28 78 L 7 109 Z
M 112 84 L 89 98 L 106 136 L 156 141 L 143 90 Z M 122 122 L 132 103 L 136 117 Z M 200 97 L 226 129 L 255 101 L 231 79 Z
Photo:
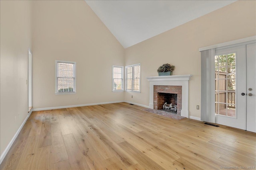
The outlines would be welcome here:
M 125 90 L 140 92 L 140 64 L 125 67 Z

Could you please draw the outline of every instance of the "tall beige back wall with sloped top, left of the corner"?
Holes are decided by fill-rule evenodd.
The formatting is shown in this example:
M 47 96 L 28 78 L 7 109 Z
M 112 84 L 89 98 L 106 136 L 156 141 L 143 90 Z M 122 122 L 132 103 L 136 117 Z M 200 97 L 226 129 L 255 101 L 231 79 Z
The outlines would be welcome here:
M 124 48 L 85 1 L 34 1 L 32 22 L 34 109 L 124 100 L 112 92 Z M 76 94 L 54 94 L 55 60 L 76 62 Z

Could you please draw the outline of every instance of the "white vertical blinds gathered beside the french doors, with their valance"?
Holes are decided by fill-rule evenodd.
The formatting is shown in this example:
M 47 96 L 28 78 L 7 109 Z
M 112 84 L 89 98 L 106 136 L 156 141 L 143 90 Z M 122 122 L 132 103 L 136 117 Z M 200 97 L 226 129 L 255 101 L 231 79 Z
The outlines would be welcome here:
M 256 36 L 202 47 L 201 52 L 201 121 L 215 123 L 215 49 L 256 43 Z

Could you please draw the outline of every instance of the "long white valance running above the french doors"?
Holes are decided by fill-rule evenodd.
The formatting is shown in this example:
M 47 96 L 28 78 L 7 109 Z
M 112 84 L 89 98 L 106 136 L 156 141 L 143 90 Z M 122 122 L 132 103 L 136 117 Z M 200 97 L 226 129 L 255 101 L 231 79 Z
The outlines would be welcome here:
M 256 40 L 256 35 L 252 36 L 252 37 L 246 37 L 246 38 L 242 38 L 242 39 L 236 39 L 234 41 L 228 41 L 225 43 L 220 43 L 220 44 L 215 44 L 215 45 L 210 45 L 207 47 L 202 47 L 199 48 L 199 51 L 204 51 L 204 50 L 209 50 L 209 49 L 214 49 L 214 48 L 218 48 L 218 47 L 224 47 L 224 46 L 229 46 L 229 45 L 235 45 L 235 44 L 239 44 L 239 43 L 245 43 L 248 41 L 255 41 Z

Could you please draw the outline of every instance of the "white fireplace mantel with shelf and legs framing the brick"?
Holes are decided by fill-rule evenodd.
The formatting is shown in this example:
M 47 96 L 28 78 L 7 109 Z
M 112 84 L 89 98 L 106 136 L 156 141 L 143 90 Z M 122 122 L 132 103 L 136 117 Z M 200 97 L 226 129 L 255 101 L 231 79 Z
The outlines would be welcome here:
M 154 86 L 182 86 L 182 110 L 181 116 L 188 117 L 188 80 L 193 76 L 174 75 L 174 76 L 154 76 L 146 77 L 149 81 L 149 108 L 154 109 Z

